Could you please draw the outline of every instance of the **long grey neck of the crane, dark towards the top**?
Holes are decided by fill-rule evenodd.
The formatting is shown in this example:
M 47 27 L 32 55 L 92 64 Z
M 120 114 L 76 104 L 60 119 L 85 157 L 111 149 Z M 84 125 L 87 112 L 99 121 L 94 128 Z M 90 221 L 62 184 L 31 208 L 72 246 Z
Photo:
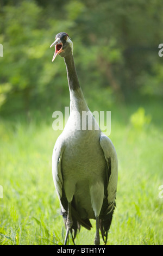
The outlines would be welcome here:
M 86 105 L 82 89 L 80 88 L 76 67 L 74 65 L 73 54 L 70 53 L 68 56 L 64 57 L 68 87 L 70 90 L 70 112 L 71 111 L 88 111 L 89 108 Z

